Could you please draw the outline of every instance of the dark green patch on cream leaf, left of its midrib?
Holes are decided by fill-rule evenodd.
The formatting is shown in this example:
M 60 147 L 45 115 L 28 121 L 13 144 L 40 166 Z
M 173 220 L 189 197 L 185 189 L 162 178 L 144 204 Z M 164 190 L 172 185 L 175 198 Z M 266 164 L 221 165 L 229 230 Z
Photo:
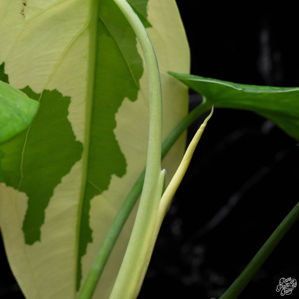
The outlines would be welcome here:
M 40 241 L 54 188 L 80 160 L 83 147 L 67 119 L 69 97 L 57 90 L 36 94 L 25 87 L 22 91 L 39 101 L 40 108 L 29 129 L 0 146 L 0 182 L 28 196 L 22 229 L 26 244 L 33 244 Z

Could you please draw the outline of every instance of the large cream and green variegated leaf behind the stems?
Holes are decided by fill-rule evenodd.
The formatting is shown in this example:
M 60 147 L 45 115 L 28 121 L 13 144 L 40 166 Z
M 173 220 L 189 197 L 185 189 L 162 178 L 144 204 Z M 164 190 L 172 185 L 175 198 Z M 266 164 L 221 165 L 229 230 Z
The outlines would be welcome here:
M 187 113 L 187 88 L 167 74 L 189 70 L 184 29 L 174 0 L 129 2 L 148 27 L 157 54 L 165 137 Z M 111 0 L 15 5 L 3 0 L 0 22 L 3 79 L 40 103 L 29 129 L 0 146 L 0 227 L 7 257 L 26 298 L 73 299 L 145 167 L 144 60 L 133 30 Z M 165 157 L 169 177 L 184 145 L 185 136 Z M 134 217 L 94 298 L 111 292 Z

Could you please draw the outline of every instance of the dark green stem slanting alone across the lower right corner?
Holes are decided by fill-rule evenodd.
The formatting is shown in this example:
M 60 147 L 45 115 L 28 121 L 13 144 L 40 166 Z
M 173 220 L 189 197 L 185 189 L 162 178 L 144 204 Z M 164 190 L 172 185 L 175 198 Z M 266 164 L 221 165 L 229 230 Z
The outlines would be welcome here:
M 299 203 L 281 222 L 243 272 L 219 299 L 236 299 L 299 217 Z

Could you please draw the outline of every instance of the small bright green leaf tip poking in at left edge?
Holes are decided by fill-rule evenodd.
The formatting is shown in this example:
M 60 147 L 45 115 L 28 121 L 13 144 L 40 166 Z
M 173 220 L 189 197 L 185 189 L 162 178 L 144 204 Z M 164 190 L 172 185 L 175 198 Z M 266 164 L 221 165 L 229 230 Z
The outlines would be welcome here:
M 0 144 L 28 128 L 39 106 L 37 101 L 7 84 L 3 69 L 2 63 L 0 65 Z M 4 80 L 7 83 L 2 82 Z

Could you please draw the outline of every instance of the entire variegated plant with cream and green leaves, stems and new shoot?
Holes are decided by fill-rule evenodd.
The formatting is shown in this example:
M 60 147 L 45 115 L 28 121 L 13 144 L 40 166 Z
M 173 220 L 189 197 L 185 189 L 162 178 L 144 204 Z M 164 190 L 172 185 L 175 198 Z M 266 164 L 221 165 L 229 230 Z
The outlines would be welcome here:
M 1 233 L 26 298 L 138 296 L 159 226 L 211 114 L 180 165 L 185 136 L 178 137 L 213 105 L 254 111 L 299 139 L 298 88 L 187 75 L 174 0 L 2 0 L 0 19 L 0 79 L 37 103 L 20 110 L 30 110 L 28 120 L 0 146 Z M 173 77 L 203 95 L 189 115 L 187 88 Z M 3 99 L 13 124 L 10 94 Z M 223 299 L 238 296 L 298 210 Z

